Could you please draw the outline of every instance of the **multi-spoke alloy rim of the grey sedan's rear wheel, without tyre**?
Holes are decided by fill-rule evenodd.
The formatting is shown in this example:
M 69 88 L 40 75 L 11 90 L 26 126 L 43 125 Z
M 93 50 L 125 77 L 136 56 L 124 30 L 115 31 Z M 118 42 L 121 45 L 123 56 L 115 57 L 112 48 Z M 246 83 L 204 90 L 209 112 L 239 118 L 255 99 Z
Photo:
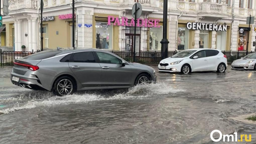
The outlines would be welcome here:
M 57 91 L 59 94 L 65 96 L 69 95 L 73 90 L 73 84 L 68 79 L 62 79 L 57 85 Z

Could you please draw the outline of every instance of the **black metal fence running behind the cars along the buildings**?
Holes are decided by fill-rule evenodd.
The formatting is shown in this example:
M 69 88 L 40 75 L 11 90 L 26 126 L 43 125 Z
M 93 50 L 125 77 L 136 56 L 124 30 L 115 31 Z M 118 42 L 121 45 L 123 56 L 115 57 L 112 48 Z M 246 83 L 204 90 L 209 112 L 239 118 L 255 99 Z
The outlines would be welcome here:
M 1 66 L 12 66 L 14 59 L 25 57 L 31 54 L 34 54 L 32 52 L 8 52 L 8 51 L 2 51 L 0 50 L 0 59 L 1 59 Z M 40 52 L 40 51 L 37 51 Z M 119 57 L 123 58 L 126 61 L 133 61 L 133 53 L 132 52 L 114 52 L 112 53 L 118 55 Z M 246 56 L 247 54 L 250 53 L 255 53 L 255 52 L 245 52 L 245 51 L 238 51 L 238 52 L 227 52 L 223 51 L 222 52 L 224 55 L 227 56 L 228 62 L 232 62 L 236 59 L 240 59 L 241 57 Z M 177 52 L 168 52 L 168 57 L 171 57 L 173 55 L 177 54 Z M 136 63 L 141 63 L 141 64 L 158 64 L 161 61 L 161 52 L 139 52 L 135 53 L 135 62 Z

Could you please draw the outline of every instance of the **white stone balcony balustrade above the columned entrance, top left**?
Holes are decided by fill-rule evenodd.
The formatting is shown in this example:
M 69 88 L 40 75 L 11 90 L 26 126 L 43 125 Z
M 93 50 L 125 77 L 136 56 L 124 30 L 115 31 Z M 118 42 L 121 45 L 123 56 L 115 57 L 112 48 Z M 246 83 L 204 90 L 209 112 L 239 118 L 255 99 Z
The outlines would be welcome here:
M 39 0 L 12 0 L 10 1 L 10 11 L 15 11 L 24 8 L 37 9 Z

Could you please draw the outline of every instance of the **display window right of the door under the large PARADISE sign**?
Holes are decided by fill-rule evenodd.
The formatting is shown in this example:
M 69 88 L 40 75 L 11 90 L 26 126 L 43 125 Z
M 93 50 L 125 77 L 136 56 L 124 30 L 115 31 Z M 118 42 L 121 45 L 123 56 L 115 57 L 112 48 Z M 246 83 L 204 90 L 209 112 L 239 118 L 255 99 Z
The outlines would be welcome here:
M 150 50 L 161 50 L 161 40 L 162 40 L 163 27 L 152 27 L 149 30 L 149 46 Z

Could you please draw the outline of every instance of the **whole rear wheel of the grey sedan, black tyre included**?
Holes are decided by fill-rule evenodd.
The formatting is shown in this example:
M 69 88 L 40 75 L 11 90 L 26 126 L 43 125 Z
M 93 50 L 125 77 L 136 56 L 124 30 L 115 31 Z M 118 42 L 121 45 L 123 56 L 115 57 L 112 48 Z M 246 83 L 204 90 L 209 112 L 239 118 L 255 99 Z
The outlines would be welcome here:
M 75 91 L 75 82 L 67 76 L 60 77 L 54 84 L 53 93 L 57 96 L 71 95 Z

